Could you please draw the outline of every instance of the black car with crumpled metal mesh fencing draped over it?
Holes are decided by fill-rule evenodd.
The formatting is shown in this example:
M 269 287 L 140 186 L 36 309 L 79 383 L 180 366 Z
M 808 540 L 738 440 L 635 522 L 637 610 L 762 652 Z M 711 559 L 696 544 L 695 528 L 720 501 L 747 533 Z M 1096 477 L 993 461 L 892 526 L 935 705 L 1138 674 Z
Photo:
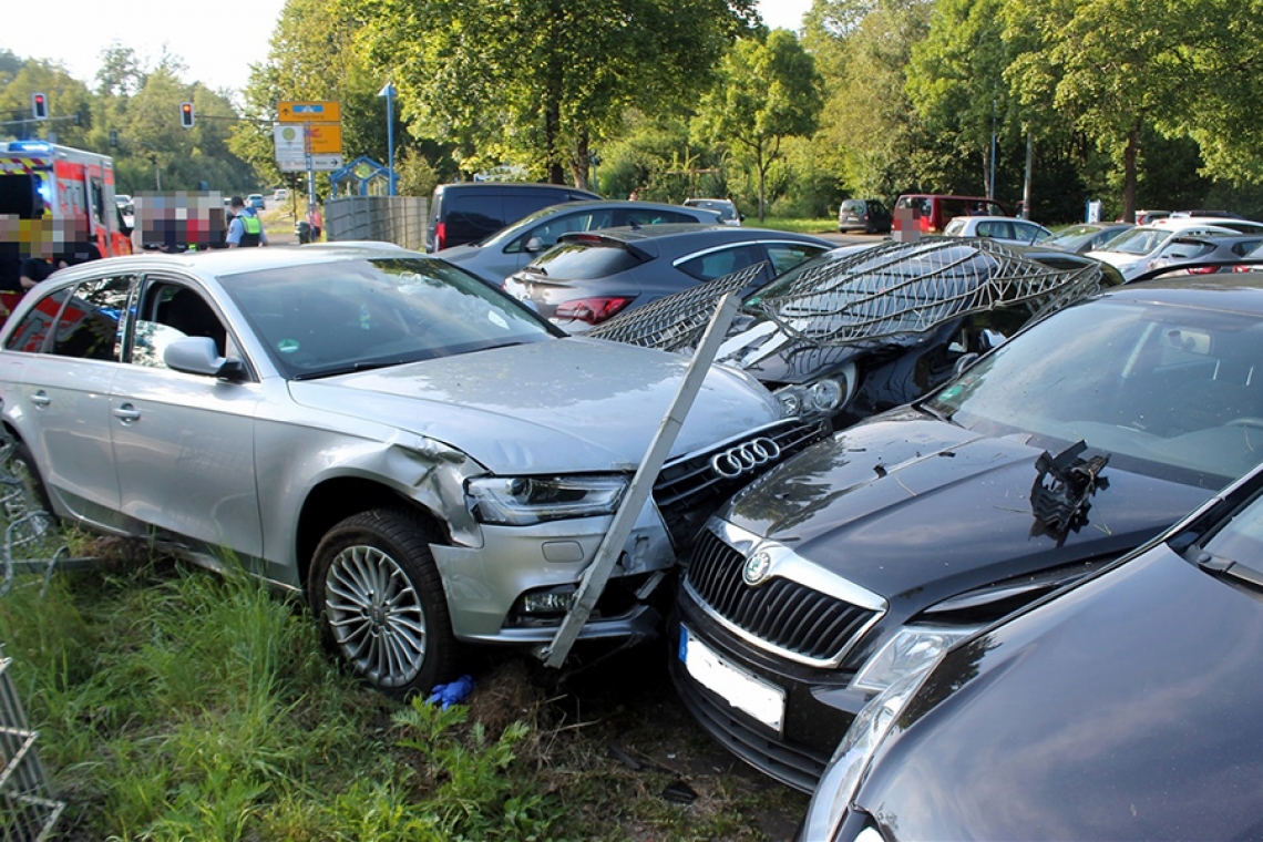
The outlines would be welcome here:
M 692 352 L 721 278 L 618 316 L 589 336 Z M 937 237 L 846 246 L 746 295 L 717 361 L 750 372 L 787 415 L 847 427 L 921 398 L 1033 318 L 1122 284 L 1080 255 Z

